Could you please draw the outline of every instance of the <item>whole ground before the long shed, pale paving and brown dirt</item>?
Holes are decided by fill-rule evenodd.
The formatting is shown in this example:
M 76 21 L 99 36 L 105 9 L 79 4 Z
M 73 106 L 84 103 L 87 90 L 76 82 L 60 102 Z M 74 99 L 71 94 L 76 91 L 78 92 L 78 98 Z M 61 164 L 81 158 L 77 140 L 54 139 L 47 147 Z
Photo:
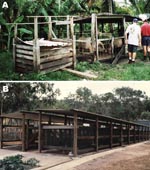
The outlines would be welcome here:
M 24 159 L 39 160 L 41 167 L 34 170 L 150 170 L 150 141 L 80 155 L 77 158 L 48 152 L 0 149 L 0 159 L 16 154 L 23 155 Z

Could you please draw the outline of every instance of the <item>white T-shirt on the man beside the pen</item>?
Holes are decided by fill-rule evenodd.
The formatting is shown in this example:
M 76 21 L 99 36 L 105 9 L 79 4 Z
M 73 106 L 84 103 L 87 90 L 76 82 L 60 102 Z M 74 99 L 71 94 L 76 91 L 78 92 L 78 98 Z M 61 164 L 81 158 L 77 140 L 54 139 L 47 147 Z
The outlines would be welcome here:
M 141 28 L 139 25 L 137 25 L 136 23 L 133 23 L 132 25 L 129 25 L 126 33 L 129 33 L 129 37 L 128 37 L 128 44 L 131 45 L 139 45 L 139 36 L 141 34 Z

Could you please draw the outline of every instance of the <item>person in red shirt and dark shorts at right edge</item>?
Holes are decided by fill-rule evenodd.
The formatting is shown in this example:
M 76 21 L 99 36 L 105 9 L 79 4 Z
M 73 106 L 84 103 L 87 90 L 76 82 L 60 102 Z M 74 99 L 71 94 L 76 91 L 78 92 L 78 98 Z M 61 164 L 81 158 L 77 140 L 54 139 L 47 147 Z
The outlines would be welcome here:
M 147 18 L 143 19 L 141 26 L 142 46 L 143 46 L 143 60 L 147 60 L 147 53 L 150 52 L 150 25 L 147 22 Z

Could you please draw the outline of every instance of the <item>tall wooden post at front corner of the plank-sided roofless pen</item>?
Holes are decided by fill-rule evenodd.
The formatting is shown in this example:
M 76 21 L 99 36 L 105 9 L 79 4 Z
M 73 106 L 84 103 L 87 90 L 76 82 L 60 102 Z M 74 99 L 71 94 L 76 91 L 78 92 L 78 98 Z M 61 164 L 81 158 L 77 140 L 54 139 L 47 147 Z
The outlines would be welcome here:
M 36 72 L 40 71 L 40 46 L 38 40 L 38 17 L 34 17 L 33 65 Z

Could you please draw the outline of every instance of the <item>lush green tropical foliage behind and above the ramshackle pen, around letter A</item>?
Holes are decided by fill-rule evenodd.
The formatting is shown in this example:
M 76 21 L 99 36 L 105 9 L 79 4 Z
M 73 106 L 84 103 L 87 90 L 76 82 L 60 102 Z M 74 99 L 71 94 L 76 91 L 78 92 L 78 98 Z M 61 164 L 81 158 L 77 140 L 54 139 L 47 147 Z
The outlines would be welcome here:
M 124 0 L 126 3 L 127 0 Z M 2 6 L 3 0 L 0 0 Z M 8 1 L 7 1 L 8 2 Z M 14 34 L 14 25 L 6 23 L 28 22 L 26 16 L 47 16 L 47 15 L 89 15 L 91 13 L 116 13 L 138 15 L 149 13 L 149 0 L 129 0 L 129 5 L 119 6 L 114 0 L 11 0 L 9 8 L 0 8 L 0 46 L 6 49 L 11 48 Z M 30 30 L 30 31 L 29 31 Z M 20 34 L 32 34 L 30 26 L 20 28 Z M 3 46 L 1 45 L 3 44 Z

